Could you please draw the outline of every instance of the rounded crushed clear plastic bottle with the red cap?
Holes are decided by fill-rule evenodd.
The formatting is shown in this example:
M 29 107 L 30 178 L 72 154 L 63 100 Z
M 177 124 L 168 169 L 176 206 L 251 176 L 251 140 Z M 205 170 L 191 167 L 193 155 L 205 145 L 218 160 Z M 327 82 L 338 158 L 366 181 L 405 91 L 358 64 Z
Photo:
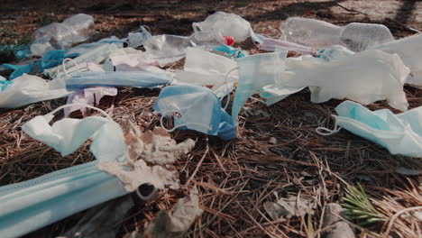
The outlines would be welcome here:
M 232 36 L 234 41 L 242 42 L 251 36 L 251 23 L 237 14 L 216 12 L 201 23 L 192 23 L 194 34 L 208 32 L 211 35 Z M 227 44 L 227 43 L 226 43 Z M 230 44 L 227 44 L 230 45 Z

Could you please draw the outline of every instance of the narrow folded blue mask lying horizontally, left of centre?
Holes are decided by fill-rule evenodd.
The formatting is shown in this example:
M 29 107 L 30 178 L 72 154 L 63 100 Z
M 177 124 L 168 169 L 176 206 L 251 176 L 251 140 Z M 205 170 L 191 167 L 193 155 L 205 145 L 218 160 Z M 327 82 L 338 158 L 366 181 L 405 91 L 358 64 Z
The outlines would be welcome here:
M 141 71 L 119 72 L 78 72 L 66 78 L 69 91 L 85 87 L 158 87 L 170 84 L 171 74 Z

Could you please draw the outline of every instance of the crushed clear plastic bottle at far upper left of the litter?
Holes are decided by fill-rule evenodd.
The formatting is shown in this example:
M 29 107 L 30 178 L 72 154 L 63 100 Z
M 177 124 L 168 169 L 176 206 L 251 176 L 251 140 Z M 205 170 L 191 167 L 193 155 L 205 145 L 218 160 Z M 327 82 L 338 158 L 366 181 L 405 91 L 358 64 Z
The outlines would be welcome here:
M 86 41 L 95 32 L 94 18 L 76 14 L 63 23 L 51 23 L 33 34 L 32 54 L 42 56 L 48 50 L 67 50 L 72 44 Z

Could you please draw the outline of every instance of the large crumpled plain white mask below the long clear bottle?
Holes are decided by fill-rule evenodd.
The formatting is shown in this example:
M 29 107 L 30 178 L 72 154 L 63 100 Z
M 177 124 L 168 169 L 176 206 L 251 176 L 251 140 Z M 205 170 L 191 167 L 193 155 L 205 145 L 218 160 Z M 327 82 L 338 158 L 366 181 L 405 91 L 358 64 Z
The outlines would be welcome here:
M 394 108 L 408 108 L 403 84 L 409 70 L 398 55 L 364 50 L 330 62 L 304 56 L 287 60 L 286 67 L 277 76 L 276 85 L 309 87 L 314 103 L 348 98 L 367 105 L 387 99 Z

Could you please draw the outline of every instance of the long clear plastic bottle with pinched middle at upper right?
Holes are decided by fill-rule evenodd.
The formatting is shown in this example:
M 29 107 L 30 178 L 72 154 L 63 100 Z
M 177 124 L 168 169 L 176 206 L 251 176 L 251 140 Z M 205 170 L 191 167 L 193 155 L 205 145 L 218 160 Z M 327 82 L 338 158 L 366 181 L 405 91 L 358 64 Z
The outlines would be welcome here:
M 343 45 L 353 51 L 362 51 L 373 45 L 394 41 L 390 30 L 382 24 L 349 23 L 343 27 L 315 19 L 291 17 L 281 23 L 285 41 L 316 49 Z

